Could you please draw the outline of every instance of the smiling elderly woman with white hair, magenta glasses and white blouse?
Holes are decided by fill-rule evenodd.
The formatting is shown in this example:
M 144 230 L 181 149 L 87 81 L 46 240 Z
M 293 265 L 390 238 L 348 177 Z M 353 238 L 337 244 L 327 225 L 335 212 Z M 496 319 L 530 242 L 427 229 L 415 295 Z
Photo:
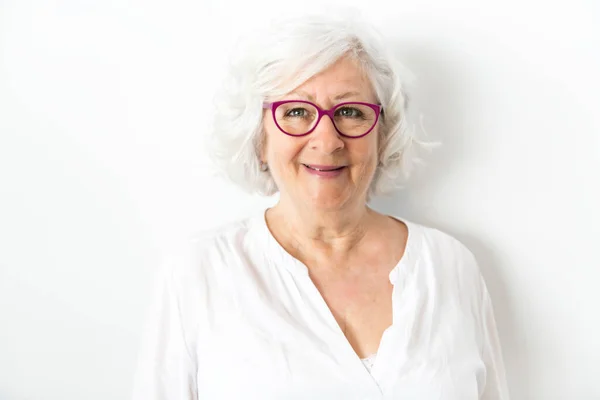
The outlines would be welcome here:
M 419 144 L 379 36 L 306 18 L 246 48 L 215 154 L 279 200 L 166 263 L 134 399 L 508 399 L 472 253 L 367 204 Z

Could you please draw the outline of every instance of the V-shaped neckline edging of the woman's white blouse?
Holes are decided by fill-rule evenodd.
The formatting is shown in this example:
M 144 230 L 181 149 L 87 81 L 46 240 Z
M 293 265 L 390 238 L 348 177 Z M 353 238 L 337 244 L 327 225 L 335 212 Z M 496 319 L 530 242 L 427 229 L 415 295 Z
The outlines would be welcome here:
M 273 260 L 273 261 L 275 261 L 277 264 L 279 264 L 279 262 L 281 262 L 281 264 L 283 264 L 286 268 L 288 268 L 292 274 L 299 275 L 303 279 L 308 280 L 307 287 L 310 288 L 309 290 L 311 290 L 313 292 L 314 297 L 319 299 L 318 307 L 321 309 L 322 314 L 324 316 L 326 316 L 328 327 L 332 330 L 332 334 L 337 337 L 336 342 L 339 342 L 340 347 L 344 348 L 344 350 L 342 352 L 343 354 L 339 354 L 339 355 L 336 354 L 336 357 L 341 358 L 341 361 L 346 361 L 348 367 L 350 367 L 350 366 L 352 367 L 352 371 L 356 375 L 357 379 L 364 379 L 365 377 L 368 377 L 368 379 L 370 379 L 370 381 L 375 384 L 378 392 L 381 394 L 383 392 L 382 384 L 384 383 L 382 380 L 383 380 L 383 377 L 386 372 L 383 369 L 384 364 L 385 364 L 386 358 L 389 358 L 391 356 L 391 354 L 393 353 L 393 351 L 392 351 L 393 343 L 392 343 L 392 340 L 390 339 L 390 336 L 392 335 L 392 331 L 397 327 L 397 322 L 398 322 L 397 316 L 398 316 L 399 310 L 397 307 L 397 303 L 399 302 L 399 296 L 402 295 L 400 293 L 401 285 L 398 285 L 398 281 L 399 281 L 401 275 L 405 275 L 408 272 L 410 272 L 409 266 L 411 265 L 411 262 L 413 261 L 413 258 L 414 258 L 413 253 L 414 253 L 414 248 L 416 247 L 416 241 L 417 241 L 416 236 L 417 236 L 417 231 L 419 230 L 418 225 L 413 223 L 412 221 L 405 219 L 405 218 L 400 218 L 400 217 L 392 216 L 392 215 L 386 215 L 387 217 L 395 219 L 396 221 L 402 222 L 406 225 L 407 238 L 406 238 L 406 244 L 405 244 L 404 252 L 403 252 L 402 256 L 400 257 L 400 259 L 398 260 L 398 262 L 396 263 L 394 268 L 392 268 L 392 270 L 389 273 L 389 280 L 393 286 L 392 298 L 391 298 L 392 323 L 390 326 L 388 326 L 383 331 L 383 334 L 381 335 L 379 346 L 378 346 L 378 349 L 376 352 L 377 358 L 375 359 L 372 369 L 369 371 L 363 364 L 362 359 L 359 357 L 359 355 L 356 353 L 356 351 L 350 344 L 350 341 L 348 340 L 348 338 L 344 334 L 342 328 L 340 327 L 337 320 L 335 319 L 333 312 L 327 305 L 325 298 L 323 297 L 323 295 L 321 294 L 321 292 L 319 291 L 319 289 L 317 288 L 317 286 L 315 285 L 313 280 L 310 278 L 308 267 L 304 263 L 302 263 L 300 260 L 298 260 L 297 258 L 292 256 L 290 253 L 288 253 L 287 250 L 285 250 L 285 248 L 277 241 L 277 239 L 275 239 L 275 237 L 271 233 L 271 230 L 269 229 L 269 226 L 268 226 L 267 220 L 266 220 L 266 213 L 268 210 L 269 210 L 269 208 L 266 208 L 265 210 L 263 210 L 259 219 L 260 219 L 260 225 L 262 226 L 262 228 L 264 229 L 265 234 L 266 234 L 266 239 L 268 241 L 268 247 L 270 249 L 274 250 L 273 252 L 270 252 L 270 253 L 278 255 L 277 259 Z M 343 358 L 342 358 L 342 355 L 343 355 Z

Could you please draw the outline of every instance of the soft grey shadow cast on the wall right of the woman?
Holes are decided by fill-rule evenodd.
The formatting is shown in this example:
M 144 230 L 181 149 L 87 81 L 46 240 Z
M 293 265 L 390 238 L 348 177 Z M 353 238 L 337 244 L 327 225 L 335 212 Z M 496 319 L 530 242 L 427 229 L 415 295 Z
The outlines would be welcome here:
M 525 353 L 522 336 L 512 311 L 506 281 L 501 275 L 499 257 L 494 254 L 489 243 L 485 243 L 477 232 L 465 232 L 450 226 L 443 226 L 433 201 L 436 188 L 446 185 L 447 178 L 456 169 L 457 161 L 472 151 L 463 146 L 478 132 L 470 128 L 464 99 L 469 91 L 476 88 L 475 77 L 468 74 L 468 66 L 460 54 L 451 50 L 423 44 L 418 48 L 414 43 L 396 43 L 398 59 L 414 73 L 416 80 L 408 87 L 408 115 L 417 129 L 417 136 L 441 146 L 431 152 L 422 152 L 424 165 L 418 165 L 403 190 L 390 196 L 382 196 L 371 201 L 371 205 L 386 214 L 399 215 L 408 220 L 447 232 L 464 243 L 477 258 L 494 305 L 494 312 L 511 396 L 517 399 L 533 398 L 528 389 L 530 368 L 527 360 L 520 358 Z M 419 114 L 423 115 L 420 127 Z M 439 201 L 438 201 L 439 202 Z M 514 373 L 511 373 L 514 371 Z M 518 373 L 517 373 L 518 371 Z M 513 389 L 514 388 L 514 389 Z M 519 389 L 517 393 L 515 389 Z

